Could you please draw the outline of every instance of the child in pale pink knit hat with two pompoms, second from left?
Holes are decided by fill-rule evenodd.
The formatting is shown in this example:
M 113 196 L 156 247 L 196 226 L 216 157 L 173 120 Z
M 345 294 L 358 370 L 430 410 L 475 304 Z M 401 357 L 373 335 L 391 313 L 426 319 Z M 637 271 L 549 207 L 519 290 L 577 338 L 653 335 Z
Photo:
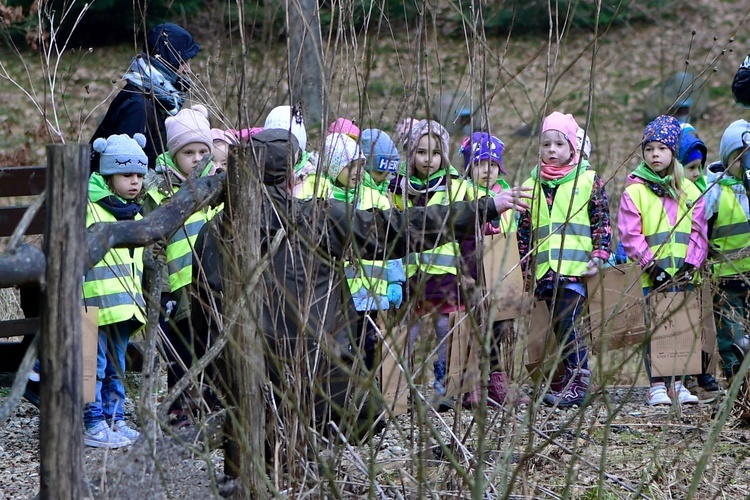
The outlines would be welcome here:
M 186 108 L 176 116 L 167 118 L 167 151 L 156 159 L 156 172 L 146 178 L 147 204 L 149 211 L 156 206 L 167 203 L 177 193 L 182 183 L 193 173 L 203 157 L 213 152 L 213 136 L 208 123 L 208 110 L 196 104 Z M 209 163 L 201 172 L 201 177 L 213 169 Z M 168 279 L 164 280 L 162 303 L 166 316 L 167 338 L 172 344 L 166 349 L 169 368 L 167 385 L 172 388 L 185 374 L 186 367 L 192 365 L 196 356 L 196 340 L 190 326 L 189 286 L 192 281 L 193 245 L 198 231 L 215 215 L 215 211 L 204 208 L 194 213 L 185 221 L 166 245 L 166 271 Z M 167 285 L 168 286 L 165 286 Z M 164 292 L 167 292 L 164 294 Z M 187 425 L 187 414 L 180 402 L 170 412 L 173 424 L 178 427 Z

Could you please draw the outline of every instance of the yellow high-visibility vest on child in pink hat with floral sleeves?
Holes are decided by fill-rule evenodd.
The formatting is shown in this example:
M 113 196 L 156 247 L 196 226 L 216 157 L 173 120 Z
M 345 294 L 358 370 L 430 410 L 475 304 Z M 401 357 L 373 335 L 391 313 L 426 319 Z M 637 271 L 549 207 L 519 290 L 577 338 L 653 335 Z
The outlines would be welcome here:
M 531 228 L 536 279 L 542 279 L 550 269 L 561 276 L 582 276 L 586 271 L 594 249 L 588 204 L 595 175 L 593 170 L 584 170 L 577 182 L 572 179 L 560 184 L 551 212 L 542 183 L 534 179 L 524 182 L 534 190 Z

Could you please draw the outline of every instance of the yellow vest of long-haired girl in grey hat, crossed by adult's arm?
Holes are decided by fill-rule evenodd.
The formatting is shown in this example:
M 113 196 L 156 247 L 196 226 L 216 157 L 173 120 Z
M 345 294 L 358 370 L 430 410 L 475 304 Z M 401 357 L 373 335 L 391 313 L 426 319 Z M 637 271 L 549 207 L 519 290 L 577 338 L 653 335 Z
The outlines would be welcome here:
M 431 205 L 448 205 L 456 201 L 468 199 L 469 186 L 466 181 L 456 178 L 450 180 L 450 199 L 448 197 L 448 187 L 443 185 L 434 192 L 432 197 L 427 201 L 427 206 Z M 403 198 L 396 195 L 396 205 L 403 208 Z M 408 198 L 407 198 L 408 200 Z M 413 206 L 408 201 L 408 206 Z M 454 274 L 458 275 L 461 268 L 461 248 L 458 243 L 452 241 L 445 243 L 431 250 L 424 250 L 419 253 L 411 253 L 406 257 L 406 277 L 414 276 L 417 271 L 425 274 Z

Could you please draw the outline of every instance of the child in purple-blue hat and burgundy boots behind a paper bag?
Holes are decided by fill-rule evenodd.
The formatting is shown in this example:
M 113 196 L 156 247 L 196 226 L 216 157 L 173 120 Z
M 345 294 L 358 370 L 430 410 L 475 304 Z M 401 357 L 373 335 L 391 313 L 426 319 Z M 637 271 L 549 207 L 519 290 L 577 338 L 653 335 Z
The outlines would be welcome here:
M 486 132 L 475 132 L 471 137 L 464 139 L 461 144 L 461 153 L 464 158 L 464 171 L 471 178 L 471 189 L 469 196 L 476 199 L 482 196 L 494 196 L 504 189 L 508 184 L 500 179 L 500 173 L 507 174 L 503 168 L 502 154 L 505 145 L 503 142 Z M 499 234 L 515 231 L 515 219 L 510 211 L 504 212 L 499 219 L 485 225 L 484 234 Z M 515 252 L 515 248 L 513 249 Z M 471 266 L 471 277 L 478 278 L 478 267 Z M 520 290 L 519 290 L 520 291 Z M 490 346 L 490 379 L 487 384 L 487 403 L 490 405 L 502 405 L 509 395 L 508 374 L 503 371 L 503 361 L 500 354 L 500 345 L 503 341 L 515 336 L 515 320 L 508 319 L 495 321 L 492 324 L 493 339 Z M 482 384 L 463 399 L 463 405 L 471 408 L 479 404 L 482 399 Z M 519 403 L 528 403 L 524 395 L 515 395 Z

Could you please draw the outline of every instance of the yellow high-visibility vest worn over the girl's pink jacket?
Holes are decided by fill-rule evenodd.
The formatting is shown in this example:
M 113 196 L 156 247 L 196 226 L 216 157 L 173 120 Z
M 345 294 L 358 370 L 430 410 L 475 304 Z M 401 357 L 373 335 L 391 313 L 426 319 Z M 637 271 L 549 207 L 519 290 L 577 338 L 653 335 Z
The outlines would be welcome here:
M 677 220 L 669 223 L 667 212 L 658 196 L 643 183 L 630 184 L 625 192 L 641 213 L 641 231 L 646 238 L 656 265 L 673 275 L 685 263 L 690 233 L 693 230 L 693 206 L 700 190 L 689 180 L 682 183 L 683 195 L 678 200 Z M 653 286 L 647 274 L 641 276 L 643 288 Z

